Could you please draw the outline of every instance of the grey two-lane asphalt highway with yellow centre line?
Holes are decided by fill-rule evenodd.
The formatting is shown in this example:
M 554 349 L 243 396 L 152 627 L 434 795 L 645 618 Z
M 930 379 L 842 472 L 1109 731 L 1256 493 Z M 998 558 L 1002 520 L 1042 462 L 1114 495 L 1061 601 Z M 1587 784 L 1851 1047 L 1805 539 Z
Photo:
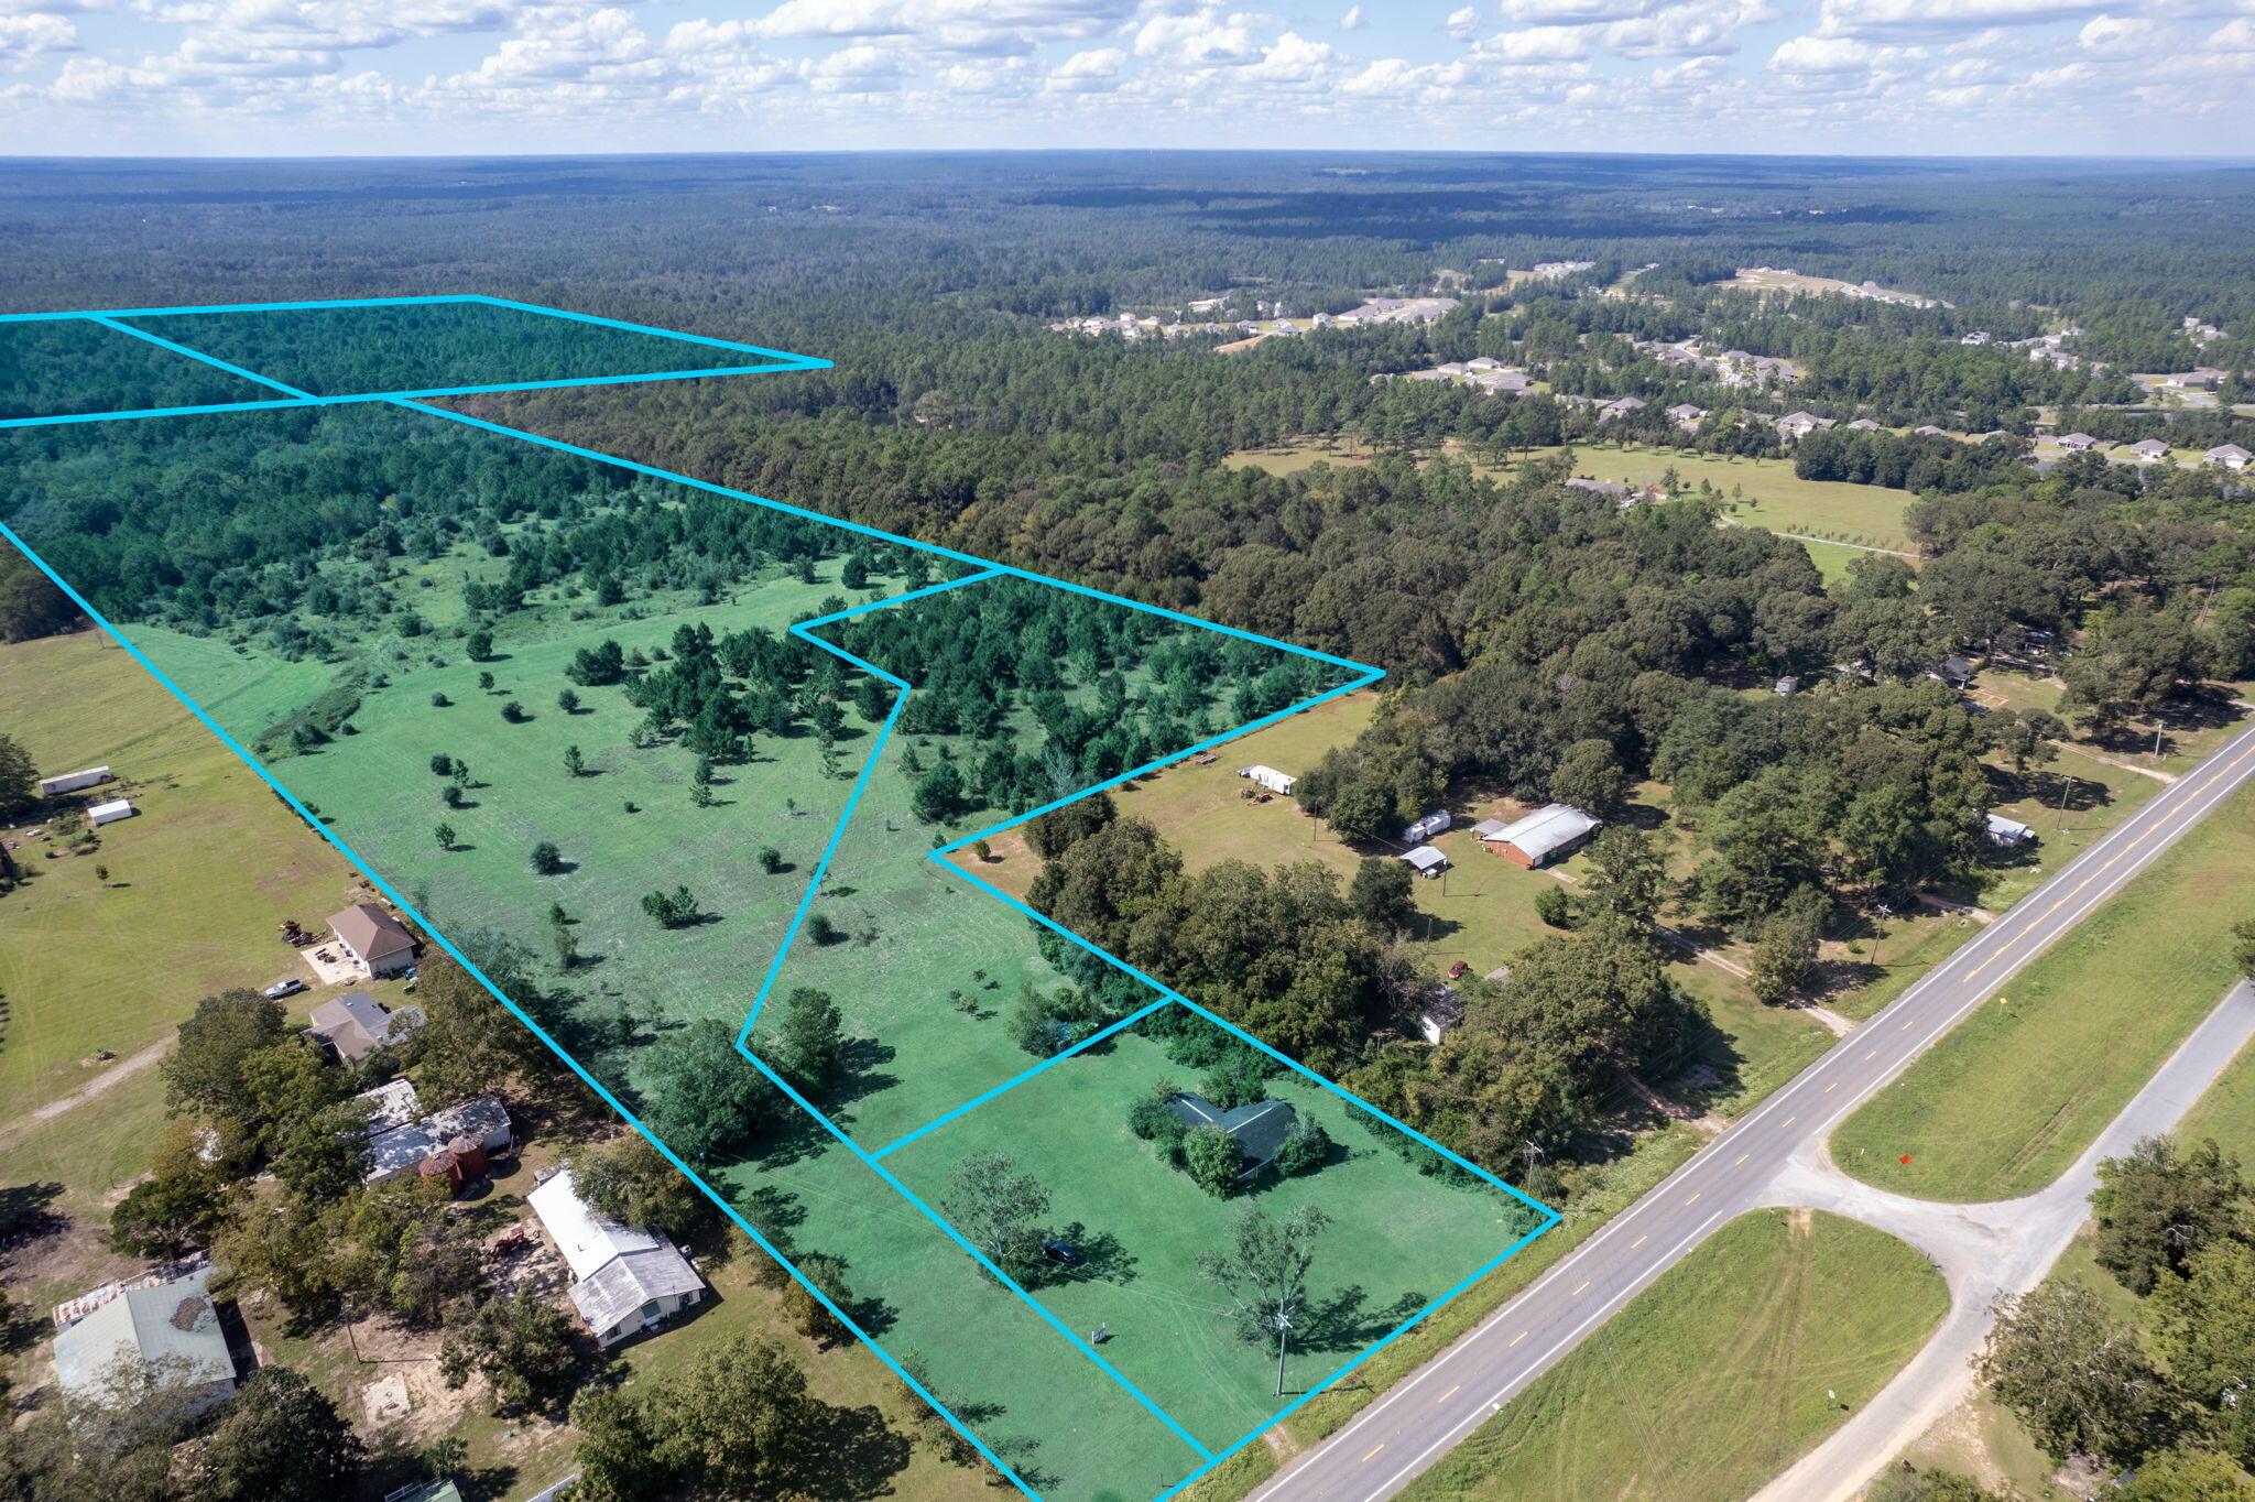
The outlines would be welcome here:
M 1772 1202 L 1766 1193 L 1770 1179 L 1795 1148 L 1822 1141 L 1847 1112 L 1908 1069 L 2248 778 L 2255 778 L 2255 728 L 2232 735 L 2156 794 L 1479 1328 L 1403 1378 L 1254 1495 L 1265 1502 L 1378 1502 L 1396 1495 L 1714 1227 Z M 2217 920 L 2223 922 L 2223 916 Z

